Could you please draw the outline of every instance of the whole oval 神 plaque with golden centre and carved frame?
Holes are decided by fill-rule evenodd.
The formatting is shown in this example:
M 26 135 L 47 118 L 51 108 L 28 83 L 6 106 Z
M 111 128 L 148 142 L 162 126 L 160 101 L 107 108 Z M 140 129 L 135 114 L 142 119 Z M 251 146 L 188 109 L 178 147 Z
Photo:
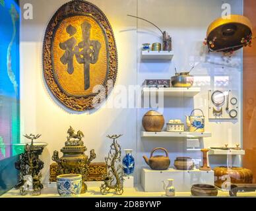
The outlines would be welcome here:
M 108 19 L 92 3 L 75 0 L 58 9 L 44 38 L 44 79 L 55 98 L 74 111 L 93 109 L 115 84 L 117 48 Z M 101 85 L 104 92 L 96 87 Z

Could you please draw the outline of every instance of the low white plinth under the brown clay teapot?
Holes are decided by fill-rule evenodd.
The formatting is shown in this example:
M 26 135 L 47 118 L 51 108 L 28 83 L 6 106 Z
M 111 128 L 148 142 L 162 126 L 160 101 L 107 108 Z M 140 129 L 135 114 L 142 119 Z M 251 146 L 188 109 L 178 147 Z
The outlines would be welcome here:
M 156 171 L 148 167 L 142 169 L 141 185 L 145 192 L 163 192 L 162 181 L 167 181 L 167 179 L 174 179 L 176 192 L 190 192 L 193 184 L 214 185 L 214 171 L 200 171 L 199 169 L 182 171 L 172 168 Z

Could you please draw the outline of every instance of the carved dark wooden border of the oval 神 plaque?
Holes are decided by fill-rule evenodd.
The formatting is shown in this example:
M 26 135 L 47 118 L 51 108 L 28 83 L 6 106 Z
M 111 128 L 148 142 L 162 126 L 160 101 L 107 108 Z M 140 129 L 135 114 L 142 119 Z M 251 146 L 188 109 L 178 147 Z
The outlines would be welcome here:
M 94 109 L 93 106 L 93 98 L 95 96 L 70 96 L 67 95 L 61 88 L 58 86 L 58 82 L 55 80 L 54 72 L 53 72 L 53 59 L 52 59 L 52 44 L 53 38 L 55 34 L 55 30 L 57 30 L 58 24 L 69 16 L 76 15 L 91 15 L 102 25 L 102 29 L 105 30 L 106 35 L 108 37 L 108 76 L 106 77 L 106 84 L 104 87 L 106 89 L 106 93 L 97 94 L 98 98 L 105 99 L 108 97 L 108 93 L 110 93 L 113 87 L 108 87 L 108 80 L 113 81 L 113 86 L 115 84 L 115 80 L 117 78 L 117 67 L 118 67 L 118 59 L 117 59 L 117 47 L 115 44 L 115 37 L 113 34 L 112 26 L 110 22 L 104 15 L 104 13 L 92 3 L 89 3 L 84 0 L 73 0 L 69 1 L 62 5 L 55 15 L 51 18 L 48 27 L 46 29 L 46 34 L 44 37 L 44 46 L 43 46 L 43 69 L 44 69 L 44 79 L 48 84 L 49 90 L 55 96 L 55 98 L 61 102 L 65 107 L 72 109 L 74 111 L 86 111 L 87 109 Z M 104 96 L 103 96 L 104 94 Z

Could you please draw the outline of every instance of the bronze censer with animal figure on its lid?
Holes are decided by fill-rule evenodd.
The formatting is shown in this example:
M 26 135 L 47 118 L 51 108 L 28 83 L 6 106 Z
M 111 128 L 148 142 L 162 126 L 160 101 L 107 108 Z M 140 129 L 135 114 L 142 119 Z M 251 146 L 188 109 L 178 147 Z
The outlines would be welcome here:
M 72 127 L 67 131 L 69 136 L 65 142 L 65 146 L 61 149 L 63 157 L 59 158 L 59 152 L 54 151 L 52 160 L 57 163 L 57 175 L 79 173 L 82 175 L 82 191 L 86 193 L 87 185 L 85 183 L 86 177 L 88 176 L 88 169 L 90 162 L 96 158 L 94 150 L 90 150 L 90 158 L 84 154 L 87 150 L 82 141 L 84 135 L 81 131 L 75 134 Z

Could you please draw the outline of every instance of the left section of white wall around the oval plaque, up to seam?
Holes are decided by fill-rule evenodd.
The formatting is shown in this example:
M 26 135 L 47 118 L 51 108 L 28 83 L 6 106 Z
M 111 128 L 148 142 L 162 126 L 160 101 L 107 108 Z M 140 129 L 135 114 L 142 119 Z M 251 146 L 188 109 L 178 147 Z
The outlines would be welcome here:
M 90 114 L 68 113 L 49 96 L 43 80 L 42 45 L 48 22 L 65 0 L 22 0 L 34 6 L 34 19 L 22 20 L 20 32 L 20 102 L 21 133 L 40 133 L 41 141 L 48 142 L 44 150 L 44 182 L 48 181 L 49 164 L 54 150 L 60 150 L 66 141 L 69 125 L 84 133 L 84 143 L 97 154 L 95 162 L 104 162 L 110 149 L 107 135 L 123 134 L 122 148 L 135 148 L 135 109 L 98 109 Z M 116 84 L 136 84 L 137 36 L 136 20 L 125 16 L 136 11 L 136 1 L 91 1 L 108 17 L 118 47 L 119 70 Z M 127 58 L 127 55 L 129 57 Z M 112 93 L 113 96 L 113 93 Z M 111 102 L 111 98 L 108 103 Z M 24 141 L 24 139 L 23 139 Z M 62 153 L 60 153 L 62 155 Z

